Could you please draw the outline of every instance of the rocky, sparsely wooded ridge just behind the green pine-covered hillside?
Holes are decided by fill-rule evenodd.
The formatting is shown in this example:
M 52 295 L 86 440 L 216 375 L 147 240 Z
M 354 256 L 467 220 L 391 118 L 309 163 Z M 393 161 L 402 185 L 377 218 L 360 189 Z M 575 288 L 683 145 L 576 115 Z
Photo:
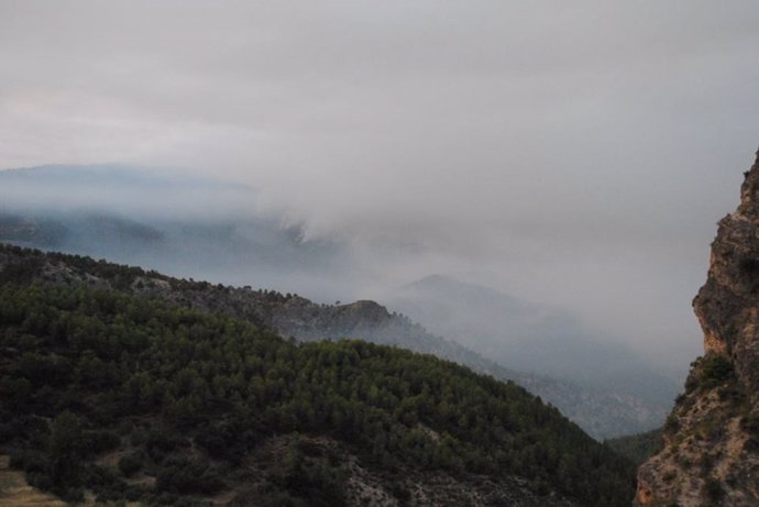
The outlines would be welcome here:
M 596 439 L 647 430 L 661 417 L 661 411 L 652 410 L 631 396 L 595 392 L 569 382 L 508 370 L 453 341 L 430 334 L 407 317 L 391 313 L 374 301 L 316 304 L 293 294 L 177 279 L 155 272 L 129 272 L 87 257 L 0 245 L 0 266 L 23 269 L 30 263 L 37 266 L 34 277 L 46 282 L 113 286 L 139 297 L 220 312 L 271 329 L 284 338 L 301 341 L 361 338 L 454 361 L 496 378 L 516 382 L 558 407 Z

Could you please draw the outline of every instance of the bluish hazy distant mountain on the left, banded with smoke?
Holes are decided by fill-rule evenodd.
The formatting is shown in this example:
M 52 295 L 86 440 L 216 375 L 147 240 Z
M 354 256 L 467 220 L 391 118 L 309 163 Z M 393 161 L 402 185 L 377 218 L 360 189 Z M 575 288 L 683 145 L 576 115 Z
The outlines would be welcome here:
M 167 169 L 52 165 L 0 172 L 0 241 L 244 285 L 340 297 L 345 251 L 260 210 L 255 189 Z M 199 203 L 201 206 L 199 206 Z

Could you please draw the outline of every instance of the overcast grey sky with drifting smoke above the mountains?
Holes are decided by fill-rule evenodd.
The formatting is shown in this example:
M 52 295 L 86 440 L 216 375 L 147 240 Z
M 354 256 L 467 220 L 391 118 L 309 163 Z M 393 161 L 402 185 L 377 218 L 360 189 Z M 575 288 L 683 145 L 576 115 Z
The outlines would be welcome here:
M 0 0 L 0 167 L 255 187 L 353 245 L 575 311 L 663 365 L 759 145 L 759 3 Z M 253 206 L 253 205 L 251 205 Z

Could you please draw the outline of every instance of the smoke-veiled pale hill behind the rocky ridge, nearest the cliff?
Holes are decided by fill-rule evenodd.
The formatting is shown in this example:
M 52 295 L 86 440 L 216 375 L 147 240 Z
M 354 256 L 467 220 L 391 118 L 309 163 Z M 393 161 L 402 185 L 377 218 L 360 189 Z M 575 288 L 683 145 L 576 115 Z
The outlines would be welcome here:
M 442 275 L 400 287 L 385 301 L 494 362 L 645 407 L 650 417 L 628 433 L 661 426 L 678 393 L 674 381 L 632 350 L 548 305 Z

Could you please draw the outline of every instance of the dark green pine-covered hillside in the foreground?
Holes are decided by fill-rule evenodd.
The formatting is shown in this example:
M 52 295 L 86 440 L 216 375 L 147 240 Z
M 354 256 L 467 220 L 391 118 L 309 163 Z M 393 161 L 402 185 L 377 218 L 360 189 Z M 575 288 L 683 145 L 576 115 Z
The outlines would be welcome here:
M 630 462 L 514 383 L 268 331 L 310 329 L 297 296 L 14 246 L 0 266 L 0 451 L 67 500 L 592 507 L 634 493 Z

